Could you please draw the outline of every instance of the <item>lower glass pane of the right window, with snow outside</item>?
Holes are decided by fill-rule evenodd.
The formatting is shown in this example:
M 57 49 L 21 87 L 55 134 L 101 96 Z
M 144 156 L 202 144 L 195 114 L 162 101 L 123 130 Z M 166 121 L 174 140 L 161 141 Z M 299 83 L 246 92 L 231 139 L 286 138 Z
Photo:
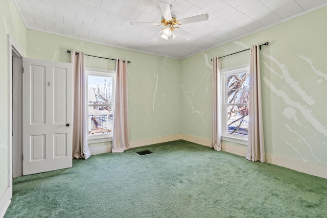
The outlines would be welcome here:
M 244 105 L 227 106 L 227 133 L 248 135 L 249 107 Z

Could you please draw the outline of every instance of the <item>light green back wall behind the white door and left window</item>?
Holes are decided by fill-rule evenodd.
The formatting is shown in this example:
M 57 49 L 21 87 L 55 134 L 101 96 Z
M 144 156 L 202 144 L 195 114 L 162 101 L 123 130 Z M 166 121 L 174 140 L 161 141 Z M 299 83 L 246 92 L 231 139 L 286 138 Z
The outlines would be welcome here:
M 78 39 L 27 31 L 29 58 L 70 62 L 66 51 L 122 58 L 128 64 L 130 140 L 179 134 L 180 62 Z M 111 60 L 85 56 L 88 67 L 115 69 Z

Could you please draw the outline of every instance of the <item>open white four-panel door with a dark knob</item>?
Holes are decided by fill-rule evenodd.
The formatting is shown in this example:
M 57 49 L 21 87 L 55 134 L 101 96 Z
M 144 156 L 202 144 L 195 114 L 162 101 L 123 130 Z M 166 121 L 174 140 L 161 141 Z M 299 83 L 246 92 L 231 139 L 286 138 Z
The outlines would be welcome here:
M 23 175 L 72 167 L 71 63 L 24 58 Z

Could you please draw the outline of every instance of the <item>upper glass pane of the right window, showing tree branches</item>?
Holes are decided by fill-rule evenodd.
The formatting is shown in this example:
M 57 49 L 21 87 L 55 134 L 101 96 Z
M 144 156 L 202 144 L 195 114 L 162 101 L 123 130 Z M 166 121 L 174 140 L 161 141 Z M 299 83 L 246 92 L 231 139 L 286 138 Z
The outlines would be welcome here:
M 228 75 L 227 104 L 248 103 L 249 99 L 249 73 Z

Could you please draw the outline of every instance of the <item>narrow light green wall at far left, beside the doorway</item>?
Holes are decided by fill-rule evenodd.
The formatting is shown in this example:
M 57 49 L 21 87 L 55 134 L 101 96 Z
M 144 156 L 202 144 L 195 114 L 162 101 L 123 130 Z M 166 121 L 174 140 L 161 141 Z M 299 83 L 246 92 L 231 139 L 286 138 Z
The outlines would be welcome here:
M 8 35 L 19 49 L 26 50 L 26 28 L 12 0 L 0 2 L 0 197 L 8 187 L 9 158 L 9 51 Z

